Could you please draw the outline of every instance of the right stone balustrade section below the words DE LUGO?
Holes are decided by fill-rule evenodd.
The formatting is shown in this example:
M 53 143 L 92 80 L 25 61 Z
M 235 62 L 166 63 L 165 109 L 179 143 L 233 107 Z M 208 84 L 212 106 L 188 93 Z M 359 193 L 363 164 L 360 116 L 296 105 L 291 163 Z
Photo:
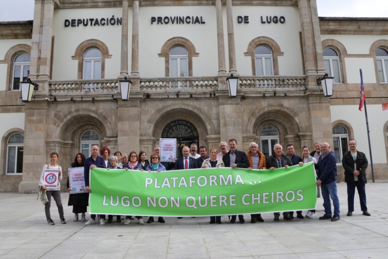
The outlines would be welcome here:
M 304 76 L 241 76 L 239 87 L 241 90 L 304 91 L 306 90 L 306 79 Z

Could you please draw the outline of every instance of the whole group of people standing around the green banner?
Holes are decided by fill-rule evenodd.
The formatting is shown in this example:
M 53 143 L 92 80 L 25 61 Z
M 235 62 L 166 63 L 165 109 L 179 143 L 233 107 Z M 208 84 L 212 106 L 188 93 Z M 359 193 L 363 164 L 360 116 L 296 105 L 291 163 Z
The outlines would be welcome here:
M 229 150 L 227 150 L 229 147 Z M 182 170 L 193 168 L 210 168 L 210 167 L 231 167 L 231 168 L 248 168 L 248 169 L 270 169 L 275 168 L 287 168 L 291 165 L 303 165 L 307 162 L 313 162 L 317 172 L 317 193 L 320 197 L 319 188 L 322 192 L 323 206 L 325 213 L 319 220 L 331 220 L 337 221 L 340 219 L 340 202 L 337 196 L 336 178 L 337 167 L 335 154 L 330 150 L 328 143 L 316 142 L 314 144 L 314 151 L 310 152 L 310 149 L 306 146 L 302 148 L 302 157 L 295 154 L 294 145 L 288 144 L 286 146 L 286 153 L 283 154 L 283 147 L 280 144 L 273 146 L 273 155 L 266 157 L 258 149 L 258 144 L 251 142 L 249 145 L 249 151 L 243 152 L 237 150 L 237 141 L 230 139 L 228 143 L 219 143 L 220 152 L 216 148 L 210 150 L 209 156 L 207 148 L 201 146 L 199 148 L 199 154 L 197 153 L 198 147 L 196 144 L 191 144 L 190 147 L 183 147 L 183 156 L 178 158 L 175 162 L 161 162 L 160 147 L 155 146 L 154 152 L 150 156 L 151 162 L 147 159 L 147 154 L 144 151 L 140 151 L 138 154 L 135 151 L 129 154 L 122 154 L 120 151 L 116 151 L 111 155 L 111 151 L 108 147 L 102 147 L 101 150 L 98 146 L 91 147 L 91 156 L 85 159 L 82 153 L 78 153 L 75 157 L 71 167 L 84 167 L 84 179 L 85 189 L 87 193 L 76 193 L 69 195 L 69 206 L 73 206 L 74 219 L 76 222 L 79 220 L 78 216 L 81 213 L 81 221 L 85 222 L 85 212 L 88 206 L 88 193 L 91 192 L 89 187 L 89 169 L 94 167 L 101 167 L 107 169 L 132 169 L 140 171 L 166 171 L 166 170 Z M 349 141 L 349 152 L 345 153 L 342 159 L 342 165 L 345 169 L 345 182 L 347 183 L 348 190 L 348 216 L 351 216 L 354 211 L 354 195 L 357 188 L 361 210 L 363 215 L 370 216 L 366 206 L 366 194 L 365 183 L 366 181 L 366 168 L 368 166 L 368 160 L 363 152 L 357 150 L 357 143 L 351 139 Z M 59 179 L 62 179 L 62 168 L 58 165 L 58 154 L 50 154 L 51 163 L 43 166 L 42 174 L 40 177 L 39 188 L 40 196 L 43 204 L 45 205 L 45 214 L 47 224 L 54 225 L 54 221 L 50 215 L 51 197 L 54 198 L 62 224 L 66 224 L 64 218 L 63 206 L 60 195 L 60 185 L 58 183 L 57 189 L 46 189 L 43 185 L 43 174 L 45 169 L 57 169 L 59 171 Z M 70 192 L 69 179 L 67 181 L 67 190 Z M 42 192 L 45 195 L 42 195 Z M 331 201 L 333 202 L 334 211 L 331 211 Z M 46 201 L 47 200 L 47 201 Z M 91 214 L 90 219 L 85 225 L 91 225 L 98 223 L 96 217 L 99 217 L 101 225 L 105 225 L 106 215 Z M 108 215 L 108 223 L 112 223 L 114 215 Z M 280 213 L 274 212 L 274 221 L 279 221 Z M 312 219 L 315 217 L 315 210 L 307 211 L 306 218 Z M 297 211 L 297 218 L 304 219 L 302 211 Z M 121 222 L 121 216 L 116 215 L 117 222 Z M 139 224 L 144 224 L 141 216 L 135 217 Z M 133 217 L 126 216 L 124 219 L 124 225 L 128 225 Z M 180 218 L 178 218 L 180 219 Z M 230 223 L 235 223 L 237 215 L 230 217 Z M 291 221 L 294 219 L 294 211 L 283 212 L 283 219 Z M 239 223 L 245 223 L 244 215 L 238 215 Z M 147 223 L 153 223 L 154 217 L 149 217 Z M 165 223 L 163 217 L 158 218 L 158 222 Z M 264 222 L 261 214 L 251 214 L 251 223 Z M 210 217 L 210 224 L 221 224 L 221 216 Z

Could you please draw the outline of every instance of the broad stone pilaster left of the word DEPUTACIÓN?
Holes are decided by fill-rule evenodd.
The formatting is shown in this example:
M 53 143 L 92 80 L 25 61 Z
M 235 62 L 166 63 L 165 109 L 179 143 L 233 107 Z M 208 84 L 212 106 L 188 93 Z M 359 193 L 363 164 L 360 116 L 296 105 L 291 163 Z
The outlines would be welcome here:
M 40 82 L 39 92 L 48 92 L 48 81 L 51 73 L 54 1 L 42 2 L 35 1 L 29 77 L 35 82 Z

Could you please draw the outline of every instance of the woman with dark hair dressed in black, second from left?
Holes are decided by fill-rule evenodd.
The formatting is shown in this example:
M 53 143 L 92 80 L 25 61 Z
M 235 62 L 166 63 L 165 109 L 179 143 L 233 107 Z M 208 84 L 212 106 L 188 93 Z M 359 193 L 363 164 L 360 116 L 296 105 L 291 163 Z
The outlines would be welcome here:
M 85 163 L 85 155 L 78 153 L 75 156 L 74 163 L 71 163 L 71 167 L 82 167 Z M 69 184 L 69 177 L 67 178 L 67 191 L 70 193 L 71 188 Z M 72 193 L 69 195 L 68 206 L 73 206 L 74 219 L 73 222 L 78 221 L 78 213 L 81 214 L 81 221 L 86 221 L 85 212 L 88 205 L 88 193 Z

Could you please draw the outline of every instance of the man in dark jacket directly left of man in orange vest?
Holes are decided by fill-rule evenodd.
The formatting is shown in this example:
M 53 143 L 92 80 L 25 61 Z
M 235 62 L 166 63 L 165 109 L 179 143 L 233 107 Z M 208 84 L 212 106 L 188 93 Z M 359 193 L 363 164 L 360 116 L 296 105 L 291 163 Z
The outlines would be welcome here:
M 232 168 L 248 168 L 249 161 L 247 154 L 243 151 L 237 150 L 237 141 L 235 139 L 229 140 L 229 152 L 223 155 L 222 161 L 224 161 L 225 167 Z M 244 216 L 238 215 L 238 221 L 241 224 L 245 223 Z M 233 224 L 236 222 L 236 215 L 232 215 L 230 223 Z

